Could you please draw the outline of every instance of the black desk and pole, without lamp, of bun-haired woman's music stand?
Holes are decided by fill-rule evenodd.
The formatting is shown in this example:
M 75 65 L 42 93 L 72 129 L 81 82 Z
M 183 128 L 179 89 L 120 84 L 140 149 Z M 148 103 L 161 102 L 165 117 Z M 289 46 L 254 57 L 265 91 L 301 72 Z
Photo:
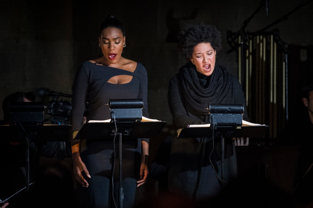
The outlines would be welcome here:
M 122 136 L 127 140 L 137 138 L 156 137 L 161 132 L 167 122 L 165 121 L 141 121 L 141 122 L 88 122 L 85 123 L 77 133 L 75 140 L 99 139 L 113 140 L 115 135 L 119 135 L 119 207 L 123 207 L 122 188 Z

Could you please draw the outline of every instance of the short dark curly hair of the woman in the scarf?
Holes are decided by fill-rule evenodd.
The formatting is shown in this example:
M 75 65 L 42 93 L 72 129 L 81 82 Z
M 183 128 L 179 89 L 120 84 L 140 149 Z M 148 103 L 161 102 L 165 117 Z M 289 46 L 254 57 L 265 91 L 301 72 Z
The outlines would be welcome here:
M 194 47 L 199 43 L 210 43 L 215 51 L 222 48 L 221 33 L 213 25 L 205 25 L 200 22 L 196 25 L 188 25 L 177 34 L 178 49 L 186 60 L 192 58 Z

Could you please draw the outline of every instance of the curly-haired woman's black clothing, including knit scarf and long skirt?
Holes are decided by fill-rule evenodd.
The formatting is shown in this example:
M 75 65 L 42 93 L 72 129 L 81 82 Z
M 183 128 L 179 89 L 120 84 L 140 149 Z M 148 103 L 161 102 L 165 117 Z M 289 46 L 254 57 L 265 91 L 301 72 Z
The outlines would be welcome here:
M 244 104 L 243 119 L 249 121 L 244 94 L 234 76 L 220 65 L 215 65 L 212 75 L 205 76 L 188 62 L 169 82 L 168 104 L 177 128 L 209 123 L 208 115 L 201 111 L 208 108 L 209 103 Z M 222 147 L 220 140 L 212 141 L 212 137 L 178 139 L 176 136 L 173 139 L 168 170 L 169 191 L 195 201 L 219 194 L 221 184 L 216 174 L 221 177 Z M 227 182 L 237 177 L 234 143 L 225 142 L 224 151 L 223 180 Z

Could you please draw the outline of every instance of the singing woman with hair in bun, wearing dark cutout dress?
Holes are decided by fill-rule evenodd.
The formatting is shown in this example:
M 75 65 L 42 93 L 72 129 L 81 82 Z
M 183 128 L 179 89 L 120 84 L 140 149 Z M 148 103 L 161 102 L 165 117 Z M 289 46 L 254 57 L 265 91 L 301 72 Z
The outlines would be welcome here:
M 119 201 L 119 153 L 115 152 L 118 139 L 115 143 L 112 139 L 80 141 L 75 136 L 83 124 L 87 102 L 87 122 L 111 118 L 107 105 L 109 99 L 142 99 L 142 115 L 149 118 L 148 80 L 146 68 L 141 63 L 122 56 L 126 47 L 125 30 L 113 15 L 107 16 L 100 25 L 99 47 L 102 56 L 82 63 L 73 85 L 71 145 L 74 177 L 80 184 L 83 205 L 116 207 Z M 122 146 L 123 206 L 132 207 L 136 187 L 143 185 L 148 176 L 149 139 L 123 141 Z

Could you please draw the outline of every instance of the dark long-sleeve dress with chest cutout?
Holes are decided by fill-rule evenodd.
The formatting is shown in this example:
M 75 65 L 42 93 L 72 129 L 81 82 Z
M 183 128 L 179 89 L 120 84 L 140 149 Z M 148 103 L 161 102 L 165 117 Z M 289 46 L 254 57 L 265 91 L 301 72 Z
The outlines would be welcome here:
M 116 75 L 130 75 L 132 80 L 126 84 L 111 84 L 107 81 Z M 143 116 L 149 118 L 147 104 L 147 73 L 141 63 L 137 63 L 136 70 L 129 72 L 112 68 L 90 61 L 84 62 L 77 71 L 72 100 L 72 132 L 80 130 L 83 123 L 85 106 L 88 102 L 89 120 L 110 119 L 110 109 L 106 105 L 109 99 L 142 99 Z M 122 186 L 124 193 L 124 207 L 131 207 L 135 200 L 136 181 L 139 176 L 141 162 L 141 141 L 123 141 L 122 149 Z M 72 145 L 80 143 L 80 156 L 85 163 L 91 178 L 85 177 L 89 187 L 80 187 L 83 207 L 111 207 L 114 203 L 111 196 L 114 148 L 114 198 L 118 206 L 119 168 L 118 168 L 118 139 L 110 140 L 71 140 Z M 84 205 L 85 203 L 85 205 Z

